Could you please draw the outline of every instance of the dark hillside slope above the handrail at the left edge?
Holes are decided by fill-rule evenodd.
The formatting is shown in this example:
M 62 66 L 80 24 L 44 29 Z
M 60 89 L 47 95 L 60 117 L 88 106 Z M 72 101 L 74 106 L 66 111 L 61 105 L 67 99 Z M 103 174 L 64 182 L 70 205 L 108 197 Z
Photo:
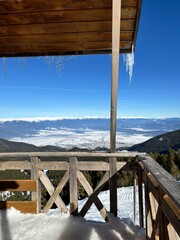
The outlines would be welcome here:
M 0 138 L 0 152 L 54 152 L 65 151 L 65 149 L 55 146 L 37 147 L 23 142 L 12 142 Z

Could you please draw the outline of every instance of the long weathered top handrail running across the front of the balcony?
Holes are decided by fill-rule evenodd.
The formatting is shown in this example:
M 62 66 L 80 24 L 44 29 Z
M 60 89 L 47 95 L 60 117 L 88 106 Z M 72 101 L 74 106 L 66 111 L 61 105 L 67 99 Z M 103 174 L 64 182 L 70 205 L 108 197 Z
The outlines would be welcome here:
M 11 152 L 11 153 L 0 153 L 0 158 L 18 158 L 18 157 L 138 157 L 144 156 L 145 154 L 138 152 Z M 13 161 L 12 161 L 13 162 Z M 11 162 L 11 163 L 12 163 Z

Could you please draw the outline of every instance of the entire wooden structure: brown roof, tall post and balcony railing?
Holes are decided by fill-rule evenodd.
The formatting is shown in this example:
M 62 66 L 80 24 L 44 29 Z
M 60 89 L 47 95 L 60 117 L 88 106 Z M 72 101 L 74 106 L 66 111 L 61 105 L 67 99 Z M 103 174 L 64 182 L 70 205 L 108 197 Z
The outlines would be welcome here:
M 42 211 L 47 212 L 55 203 L 66 212 L 59 193 L 69 181 L 71 214 L 85 216 L 94 203 L 107 219 L 98 193 L 110 179 L 110 211 L 117 215 L 116 173 L 131 168 L 138 175 L 140 226 L 144 226 L 142 184 L 145 186 L 147 239 L 178 239 L 180 189 L 175 180 L 147 155 L 115 153 L 119 53 L 135 48 L 141 5 L 142 0 L 0 0 L 0 57 L 112 53 L 111 153 L 1 153 L 1 158 L 26 157 L 27 161 L 1 161 L 0 169 L 31 170 L 31 180 L 1 180 L 0 190 L 32 191 L 32 201 L 0 202 L 0 208 L 40 212 L 44 185 L 51 197 Z M 109 162 L 79 162 L 82 156 L 108 158 Z M 117 162 L 117 157 L 125 156 L 136 157 L 139 162 Z M 67 157 L 69 161 L 43 162 L 41 157 Z M 65 171 L 56 188 L 45 169 Z M 105 171 L 95 189 L 83 170 Z M 77 181 L 89 195 L 80 212 Z

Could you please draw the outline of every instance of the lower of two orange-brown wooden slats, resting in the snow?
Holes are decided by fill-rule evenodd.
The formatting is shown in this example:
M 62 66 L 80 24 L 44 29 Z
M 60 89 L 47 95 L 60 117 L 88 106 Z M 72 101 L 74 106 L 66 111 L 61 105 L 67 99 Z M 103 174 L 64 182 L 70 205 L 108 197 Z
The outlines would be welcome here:
M 36 213 L 36 201 L 0 201 L 0 209 L 8 209 L 14 207 L 22 213 Z

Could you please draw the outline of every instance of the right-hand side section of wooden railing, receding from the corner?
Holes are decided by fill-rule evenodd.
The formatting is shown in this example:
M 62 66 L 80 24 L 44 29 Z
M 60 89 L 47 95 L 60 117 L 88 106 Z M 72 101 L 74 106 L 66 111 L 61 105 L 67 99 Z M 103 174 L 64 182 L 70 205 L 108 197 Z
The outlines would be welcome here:
M 138 160 L 140 225 L 144 225 L 144 183 L 147 239 L 180 239 L 180 186 L 150 156 L 138 156 Z

